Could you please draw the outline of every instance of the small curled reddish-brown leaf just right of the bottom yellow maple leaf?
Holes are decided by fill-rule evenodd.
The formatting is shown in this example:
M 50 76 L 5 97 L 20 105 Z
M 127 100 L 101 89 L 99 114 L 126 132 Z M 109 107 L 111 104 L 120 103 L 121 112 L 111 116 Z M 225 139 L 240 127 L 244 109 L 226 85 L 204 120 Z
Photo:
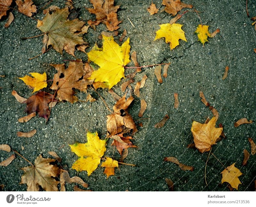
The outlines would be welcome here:
M 127 149 L 129 147 L 137 147 L 133 145 L 132 142 L 130 141 L 132 137 L 131 136 L 124 137 L 124 133 L 112 136 L 111 138 L 114 139 L 111 145 L 116 146 L 116 149 L 120 155 L 123 154 L 124 149 Z

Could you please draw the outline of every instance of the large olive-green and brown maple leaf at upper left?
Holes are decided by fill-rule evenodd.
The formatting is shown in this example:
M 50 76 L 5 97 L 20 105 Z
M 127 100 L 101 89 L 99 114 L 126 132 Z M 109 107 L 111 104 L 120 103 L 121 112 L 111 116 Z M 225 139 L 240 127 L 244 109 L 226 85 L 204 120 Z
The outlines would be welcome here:
M 83 45 L 85 42 L 76 32 L 80 32 L 84 22 L 79 19 L 67 20 L 68 8 L 56 8 L 52 14 L 46 13 L 44 19 L 37 21 L 37 28 L 47 33 L 47 47 L 52 47 L 62 54 L 63 49 L 70 55 L 74 55 L 76 45 Z

